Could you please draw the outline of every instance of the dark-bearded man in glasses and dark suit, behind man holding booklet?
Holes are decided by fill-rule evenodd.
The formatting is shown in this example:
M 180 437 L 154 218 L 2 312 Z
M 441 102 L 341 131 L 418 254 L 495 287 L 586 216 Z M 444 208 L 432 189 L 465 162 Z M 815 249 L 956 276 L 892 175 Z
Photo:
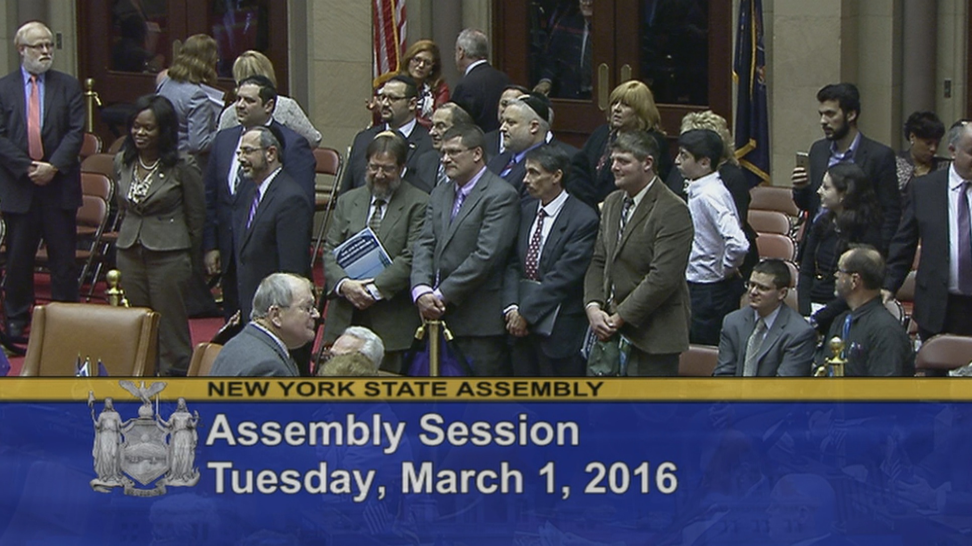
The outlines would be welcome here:
M 364 186 L 367 165 L 365 150 L 382 131 L 396 131 L 408 144 L 408 152 L 405 154 L 407 174 L 416 173 L 419 156 L 433 149 L 429 130 L 420 125 L 415 117 L 418 108 L 418 86 L 415 80 L 408 76 L 396 76 L 382 86 L 375 100 L 378 102 L 382 123 L 368 127 L 355 136 L 348 167 L 341 180 L 341 193 Z M 423 183 L 431 187 L 434 180 L 424 180 Z

